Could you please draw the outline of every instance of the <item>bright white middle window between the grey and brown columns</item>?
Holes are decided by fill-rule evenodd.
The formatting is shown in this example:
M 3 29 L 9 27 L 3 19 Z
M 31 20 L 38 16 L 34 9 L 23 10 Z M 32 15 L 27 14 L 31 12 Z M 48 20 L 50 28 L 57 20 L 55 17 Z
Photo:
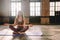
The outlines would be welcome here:
M 30 16 L 40 16 L 40 2 L 30 2 Z

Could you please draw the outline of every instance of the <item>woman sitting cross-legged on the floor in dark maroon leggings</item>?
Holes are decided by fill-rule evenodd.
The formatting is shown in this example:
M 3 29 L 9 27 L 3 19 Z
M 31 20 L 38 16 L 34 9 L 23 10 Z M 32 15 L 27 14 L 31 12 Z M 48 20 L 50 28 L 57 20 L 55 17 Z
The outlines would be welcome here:
M 25 19 L 23 18 L 24 16 L 20 13 L 22 12 L 18 13 L 18 16 L 15 18 L 14 24 L 11 24 L 9 26 L 9 28 L 13 31 L 13 34 L 24 34 L 25 31 L 29 28 L 29 26 L 25 26 Z M 14 28 L 14 26 L 17 26 L 17 28 Z

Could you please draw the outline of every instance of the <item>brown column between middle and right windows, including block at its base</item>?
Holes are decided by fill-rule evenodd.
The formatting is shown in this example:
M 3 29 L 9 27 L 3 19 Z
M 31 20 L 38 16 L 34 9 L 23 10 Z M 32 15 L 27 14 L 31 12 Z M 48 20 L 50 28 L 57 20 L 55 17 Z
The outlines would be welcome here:
M 49 0 L 42 0 L 41 16 L 49 16 Z M 41 18 L 41 24 L 49 24 L 49 18 Z

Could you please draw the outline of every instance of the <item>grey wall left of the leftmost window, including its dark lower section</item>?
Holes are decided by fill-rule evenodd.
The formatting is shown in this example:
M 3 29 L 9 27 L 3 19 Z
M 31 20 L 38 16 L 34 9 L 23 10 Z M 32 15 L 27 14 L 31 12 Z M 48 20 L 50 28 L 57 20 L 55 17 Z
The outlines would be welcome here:
M 10 16 L 10 0 L 0 0 L 0 22 L 9 22 Z

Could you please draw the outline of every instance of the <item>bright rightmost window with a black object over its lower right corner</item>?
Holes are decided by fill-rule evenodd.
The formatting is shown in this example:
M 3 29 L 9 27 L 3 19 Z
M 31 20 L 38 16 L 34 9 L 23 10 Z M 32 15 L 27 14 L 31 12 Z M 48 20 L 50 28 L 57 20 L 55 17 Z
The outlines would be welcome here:
M 55 16 L 56 11 L 60 11 L 60 2 L 50 2 L 50 16 Z

